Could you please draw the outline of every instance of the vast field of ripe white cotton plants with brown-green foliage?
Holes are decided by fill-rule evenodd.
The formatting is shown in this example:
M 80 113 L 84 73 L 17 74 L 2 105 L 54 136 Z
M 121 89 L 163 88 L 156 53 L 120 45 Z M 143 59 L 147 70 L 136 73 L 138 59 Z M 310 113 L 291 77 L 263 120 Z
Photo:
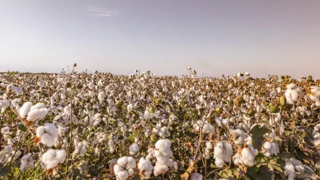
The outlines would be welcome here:
M 319 179 L 320 81 L 0 74 L 2 179 Z

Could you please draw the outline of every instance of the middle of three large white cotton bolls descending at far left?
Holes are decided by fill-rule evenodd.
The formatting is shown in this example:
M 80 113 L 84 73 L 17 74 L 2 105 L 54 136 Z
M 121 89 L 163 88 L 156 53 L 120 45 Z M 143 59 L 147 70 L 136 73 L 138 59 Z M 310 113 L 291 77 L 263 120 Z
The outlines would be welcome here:
M 44 126 L 36 128 L 35 135 L 40 139 L 40 142 L 48 147 L 54 144 L 54 138 L 58 136 L 58 130 L 54 124 L 44 123 Z

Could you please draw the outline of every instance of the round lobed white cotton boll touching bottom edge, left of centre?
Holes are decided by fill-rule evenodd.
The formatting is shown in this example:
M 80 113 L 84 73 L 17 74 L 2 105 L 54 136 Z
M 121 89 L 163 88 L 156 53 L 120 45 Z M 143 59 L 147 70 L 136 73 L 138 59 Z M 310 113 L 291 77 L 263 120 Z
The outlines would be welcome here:
M 133 157 L 123 156 L 117 159 L 116 164 L 113 167 L 114 174 L 117 179 L 125 180 L 129 176 L 133 175 L 135 167 L 135 161 Z

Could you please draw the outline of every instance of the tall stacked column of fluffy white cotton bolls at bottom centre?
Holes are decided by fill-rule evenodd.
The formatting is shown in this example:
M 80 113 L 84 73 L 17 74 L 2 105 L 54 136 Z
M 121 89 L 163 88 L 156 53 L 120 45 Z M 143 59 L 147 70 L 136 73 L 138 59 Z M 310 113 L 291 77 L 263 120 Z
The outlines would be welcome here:
M 177 162 L 173 161 L 170 157 L 172 151 L 170 150 L 171 142 L 168 139 L 160 139 L 155 144 L 154 156 L 156 158 L 155 166 L 153 167 L 153 174 L 155 176 L 165 173 L 169 168 L 173 171 L 178 170 Z

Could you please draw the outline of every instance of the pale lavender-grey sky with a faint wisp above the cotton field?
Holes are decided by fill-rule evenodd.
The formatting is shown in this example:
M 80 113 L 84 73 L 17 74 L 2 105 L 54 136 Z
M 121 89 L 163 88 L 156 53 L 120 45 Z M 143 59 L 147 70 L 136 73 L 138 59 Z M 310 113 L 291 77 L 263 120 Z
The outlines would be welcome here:
M 0 71 L 320 77 L 320 0 L 0 0 Z

